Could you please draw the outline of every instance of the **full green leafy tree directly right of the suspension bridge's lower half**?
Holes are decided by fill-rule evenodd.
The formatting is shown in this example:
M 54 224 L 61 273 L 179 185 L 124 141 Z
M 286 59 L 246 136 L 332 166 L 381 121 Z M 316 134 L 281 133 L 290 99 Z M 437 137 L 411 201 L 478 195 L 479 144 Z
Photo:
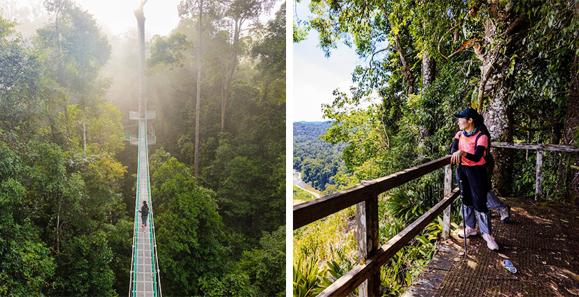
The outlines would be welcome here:
M 157 150 L 152 160 L 166 155 Z M 163 287 L 177 295 L 201 294 L 202 278 L 220 276 L 226 253 L 215 193 L 197 185 L 183 163 L 171 157 L 151 171 Z

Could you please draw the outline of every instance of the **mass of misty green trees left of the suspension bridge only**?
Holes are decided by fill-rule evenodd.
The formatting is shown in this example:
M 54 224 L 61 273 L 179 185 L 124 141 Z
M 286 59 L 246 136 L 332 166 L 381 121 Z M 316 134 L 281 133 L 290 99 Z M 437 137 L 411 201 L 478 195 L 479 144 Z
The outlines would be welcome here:
M 103 103 L 98 73 L 110 49 L 86 11 L 59 1 L 46 8 L 59 8 L 59 21 L 38 31 L 35 48 L 0 18 L 8 73 L 0 79 L 0 295 L 117 296 L 126 291 L 132 223 L 120 195 L 126 169 L 114 157 L 124 147 L 121 113 Z

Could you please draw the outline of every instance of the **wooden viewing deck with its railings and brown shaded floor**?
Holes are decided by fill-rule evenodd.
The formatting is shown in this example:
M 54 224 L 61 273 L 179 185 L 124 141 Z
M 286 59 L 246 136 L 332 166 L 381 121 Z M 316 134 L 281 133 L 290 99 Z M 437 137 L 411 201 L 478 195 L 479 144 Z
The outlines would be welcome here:
M 541 197 L 542 151 L 577 153 L 571 146 L 493 143 L 500 148 L 537 150 L 537 191 Z M 380 242 L 378 195 L 444 168 L 444 197 L 406 229 Z M 576 296 L 579 294 L 579 213 L 566 208 L 537 207 L 534 202 L 513 202 L 511 224 L 495 222 L 493 233 L 499 251 L 490 251 L 478 236 L 468 238 L 467 255 L 459 255 L 462 241 L 449 238 L 450 206 L 458 197 L 452 189 L 450 155 L 391 175 L 364 181 L 350 189 L 294 205 L 294 230 L 347 207 L 356 206 L 358 265 L 318 295 L 347 296 L 358 288 L 359 296 L 381 296 L 380 267 L 435 218 L 444 213 L 443 238 L 431 266 L 407 296 Z M 531 204 L 531 205 L 530 205 Z M 446 260 L 440 260 L 445 257 Z M 510 274 L 501 264 L 509 258 L 519 269 Z M 452 260 L 448 260 L 452 259 Z M 549 286 L 545 288 L 544 286 Z

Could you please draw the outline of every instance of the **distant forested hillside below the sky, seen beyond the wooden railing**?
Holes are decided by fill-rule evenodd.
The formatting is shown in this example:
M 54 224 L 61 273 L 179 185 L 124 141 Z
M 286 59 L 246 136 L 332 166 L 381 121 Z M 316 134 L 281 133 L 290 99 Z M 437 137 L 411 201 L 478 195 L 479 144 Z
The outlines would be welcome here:
M 342 151 L 345 144 L 330 144 L 319 137 L 326 134 L 330 122 L 294 122 L 294 169 L 302 180 L 324 191 L 326 184 L 335 184 L 332 177 L 344 171 Z

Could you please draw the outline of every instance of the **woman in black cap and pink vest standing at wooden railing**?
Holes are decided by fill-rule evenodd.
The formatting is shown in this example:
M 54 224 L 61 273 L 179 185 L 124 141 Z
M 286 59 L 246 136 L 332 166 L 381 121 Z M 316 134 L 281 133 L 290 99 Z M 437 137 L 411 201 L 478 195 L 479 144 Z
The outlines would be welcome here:
M 492 237 L 490 211 L 487 207 L 488 182 L 484 156 L 488 136 L 478 128 L 483 124 L 483 116 L 473 108 L 467 108 L 453 116 L 458 118 L 458 128 L 461 131 L 454 136 L 450 162 L 461 165 L 456 169 L 456 179 L 462 180 L 460 185 L 464 209 L 461 214 L 464 213 L 463 220 L 466 224 L 465 229 L 458 231 L 458 236 L 467 238 L 476 235 L 475 217 L 478 217 L 479 229 L 487 247 L 496 251 L 499 245 Z

